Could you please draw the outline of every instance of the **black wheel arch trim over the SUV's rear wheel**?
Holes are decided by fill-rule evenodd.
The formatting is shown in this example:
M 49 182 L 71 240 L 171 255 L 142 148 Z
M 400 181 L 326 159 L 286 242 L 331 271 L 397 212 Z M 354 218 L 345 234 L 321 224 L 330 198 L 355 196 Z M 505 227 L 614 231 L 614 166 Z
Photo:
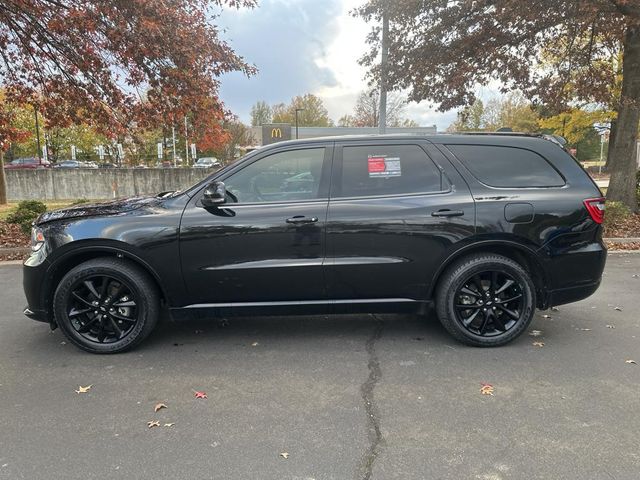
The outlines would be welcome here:
M 545 285 L 548 284 L 548 278 L 540 256 L 532 248 L 508 240 L 475 242 L 450 253 L 449 256 L 440 263 L 438 270 L 429 284 L 428 298 L 434 298 L 442 275 L 454 262 L 468 255 L 477 253 L 495 253 L 510 258 L 522 265 L 525 270 L 531 273 L 531 278 L 536 287 L 537 307 L 542 309 L 547 308 L 547 289 Z

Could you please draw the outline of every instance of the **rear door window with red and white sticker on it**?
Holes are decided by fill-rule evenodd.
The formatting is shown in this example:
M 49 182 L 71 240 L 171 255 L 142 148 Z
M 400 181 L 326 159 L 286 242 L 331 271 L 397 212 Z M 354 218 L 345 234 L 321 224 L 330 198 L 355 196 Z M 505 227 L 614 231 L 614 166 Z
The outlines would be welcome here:
M 344 147 L 340 197 L 442 190 L 440 170 L 417 145 Z

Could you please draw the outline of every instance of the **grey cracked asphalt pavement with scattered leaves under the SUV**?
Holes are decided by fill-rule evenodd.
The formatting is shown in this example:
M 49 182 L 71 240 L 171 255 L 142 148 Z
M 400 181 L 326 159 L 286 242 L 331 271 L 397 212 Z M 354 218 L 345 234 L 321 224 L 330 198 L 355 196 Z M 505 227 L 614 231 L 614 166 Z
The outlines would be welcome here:
M 165 321 L 95 356 L 23 317 L 0 266 L 0 479 L 635 480 L 639 276 L 610 255 L 594 296 L 498 349 L 354 315 Z

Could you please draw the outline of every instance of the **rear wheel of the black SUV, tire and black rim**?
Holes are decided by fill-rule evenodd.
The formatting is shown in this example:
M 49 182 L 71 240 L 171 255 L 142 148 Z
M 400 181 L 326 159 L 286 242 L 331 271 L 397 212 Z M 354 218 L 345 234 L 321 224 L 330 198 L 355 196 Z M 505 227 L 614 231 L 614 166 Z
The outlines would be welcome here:
M 535 313 L 535 292 L 519 263 L 490 253 L 470 255 L 443 274 L 436 290 L 436 312 L 458 341 L 498 347 L 527 329 Z

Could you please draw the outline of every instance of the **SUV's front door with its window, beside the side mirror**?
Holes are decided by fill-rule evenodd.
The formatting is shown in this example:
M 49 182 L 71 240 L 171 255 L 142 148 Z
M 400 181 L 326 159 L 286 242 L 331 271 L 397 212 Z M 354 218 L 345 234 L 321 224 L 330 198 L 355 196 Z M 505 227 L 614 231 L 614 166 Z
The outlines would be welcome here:
M 190 201 L 180 227 L 194 304 L 326 299 L 325 256 L 333 144 L 269 149 L 222 174 L 226 203 Z M 300 179 L 305 181 L 300 181 Z

